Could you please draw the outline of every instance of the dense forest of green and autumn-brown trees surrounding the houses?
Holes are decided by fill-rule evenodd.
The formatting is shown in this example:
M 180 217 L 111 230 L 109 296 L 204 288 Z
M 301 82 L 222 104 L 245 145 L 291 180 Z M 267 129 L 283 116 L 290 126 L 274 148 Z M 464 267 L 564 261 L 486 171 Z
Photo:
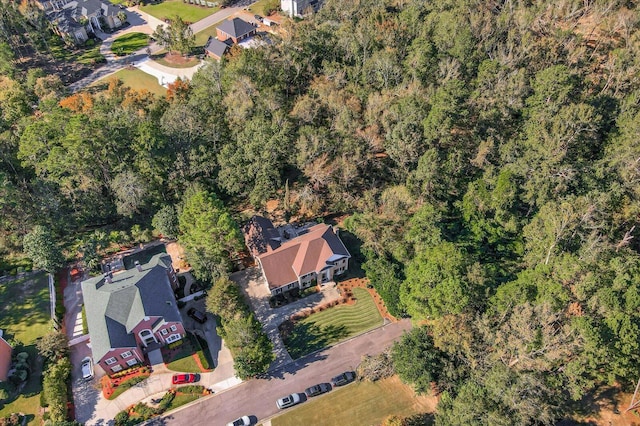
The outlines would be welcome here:
M 214 279 L 234 212 L 347 214 L 421 324 L 394 358 L 436 422 L 553 424 L 640 377 L 639 23 L 623 0 L 327 0 L 164 98 L 3 64 L 0 251 L 153 218 Z

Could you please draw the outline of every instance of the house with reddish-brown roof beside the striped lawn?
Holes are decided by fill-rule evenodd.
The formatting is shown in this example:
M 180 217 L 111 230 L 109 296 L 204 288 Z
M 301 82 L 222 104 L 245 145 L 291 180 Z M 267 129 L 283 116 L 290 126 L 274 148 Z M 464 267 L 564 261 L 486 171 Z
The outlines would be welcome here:
M 329 225 L 275 228 L 255 216 L 244 235 L 272 295 L 332 281 L 349 267 L 351 255 Z

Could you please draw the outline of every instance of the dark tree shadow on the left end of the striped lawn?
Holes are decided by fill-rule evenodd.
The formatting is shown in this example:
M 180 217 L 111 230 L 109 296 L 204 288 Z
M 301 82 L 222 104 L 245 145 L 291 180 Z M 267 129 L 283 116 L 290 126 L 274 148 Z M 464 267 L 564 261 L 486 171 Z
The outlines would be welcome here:
M 285 321 L 279 328 L 282 341 L 293 359 L 325 348 L 349 334 L 344 325 L 321 327 L 314 323 Z

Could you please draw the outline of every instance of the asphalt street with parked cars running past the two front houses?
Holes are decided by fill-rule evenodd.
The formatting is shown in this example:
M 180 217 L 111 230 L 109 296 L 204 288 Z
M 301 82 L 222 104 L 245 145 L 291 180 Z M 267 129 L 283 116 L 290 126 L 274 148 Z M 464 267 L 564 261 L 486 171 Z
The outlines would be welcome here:
M 148 424 L 171 426 L 226 425 L 240 416 L 249 415 L 264 421 L 280 410 L 276 399 L 304 392 L 309 386 L 328 382 L 346 370 L 355 370 L 362 355 L 382 352 L 406 330 L 409 320 L 387 324 L 364 335 L 311 354 L 287 366 L 270 372 L 267 379 L 254 379 L 213 395 Z

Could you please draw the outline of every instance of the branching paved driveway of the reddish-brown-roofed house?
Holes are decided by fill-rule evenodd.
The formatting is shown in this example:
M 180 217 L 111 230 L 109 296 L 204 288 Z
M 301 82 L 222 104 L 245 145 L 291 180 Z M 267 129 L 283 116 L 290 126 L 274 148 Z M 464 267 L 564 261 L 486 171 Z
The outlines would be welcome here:
M 259 268 L 247 268 L 233 273 L 229 278 L 238 283 L 249 298 L 251 308 L 262 324 L 262 329 L 273 343 L 276 359 L 269 370 L 280 368 L 292 361 L 284 343 L 282 343 L 278 326 L 296 312 L 340 298 L 335 283 L 328 283 L 318 293 L 274 309 L 269 306 L 271 293 L 267 289 L 267 284 Z

